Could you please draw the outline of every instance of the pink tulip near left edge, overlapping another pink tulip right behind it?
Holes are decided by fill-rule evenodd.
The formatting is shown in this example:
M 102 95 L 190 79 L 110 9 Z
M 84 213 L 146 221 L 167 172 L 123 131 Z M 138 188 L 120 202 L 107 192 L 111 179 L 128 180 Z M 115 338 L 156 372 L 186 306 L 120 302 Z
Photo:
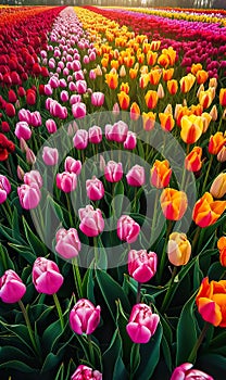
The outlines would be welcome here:
M 21 205 L 25 210 L 36 208 L 40 202 L 41 193 L 37 183 L 22 185 L 17 188 Z

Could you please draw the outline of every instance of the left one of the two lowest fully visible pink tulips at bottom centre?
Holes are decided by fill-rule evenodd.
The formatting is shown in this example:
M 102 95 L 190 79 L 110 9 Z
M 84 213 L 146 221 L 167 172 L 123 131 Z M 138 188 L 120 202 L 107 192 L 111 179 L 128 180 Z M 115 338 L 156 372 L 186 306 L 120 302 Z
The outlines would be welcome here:
M 100 306 L 95 307 L 89 300 L 79 300 L 70 313 L 71 328 L 79 335 L 91 334 L 100 322 Z

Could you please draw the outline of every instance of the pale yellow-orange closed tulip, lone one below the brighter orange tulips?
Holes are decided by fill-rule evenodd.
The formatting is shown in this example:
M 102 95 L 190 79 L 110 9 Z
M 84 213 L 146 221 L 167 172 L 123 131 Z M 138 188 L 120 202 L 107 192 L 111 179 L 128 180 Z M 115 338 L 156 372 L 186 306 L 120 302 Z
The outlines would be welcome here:
M 191 255 L 191 244 L 185 233 L 173 232 L 168 237 L 167 255 L 171 264 L 186 265 Z

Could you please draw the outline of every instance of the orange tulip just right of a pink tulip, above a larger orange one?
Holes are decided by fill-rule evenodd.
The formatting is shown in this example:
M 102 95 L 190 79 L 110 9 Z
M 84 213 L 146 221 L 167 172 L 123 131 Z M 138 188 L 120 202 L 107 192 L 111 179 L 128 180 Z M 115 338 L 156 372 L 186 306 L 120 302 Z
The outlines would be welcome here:
M 155 160 L 150 170 L 150 182 L 156 189 L 163 189 L 168 186 L 172 176 L 172 169 L 170 168 L 168 161 Z

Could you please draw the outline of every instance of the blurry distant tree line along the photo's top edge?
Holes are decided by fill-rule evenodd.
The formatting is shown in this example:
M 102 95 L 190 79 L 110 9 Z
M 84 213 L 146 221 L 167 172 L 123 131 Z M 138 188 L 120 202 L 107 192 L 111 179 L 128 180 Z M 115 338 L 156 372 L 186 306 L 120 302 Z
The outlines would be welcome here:
M 3 0 L 9 5 L 124 5 L 226 9 L 226 0 Z

